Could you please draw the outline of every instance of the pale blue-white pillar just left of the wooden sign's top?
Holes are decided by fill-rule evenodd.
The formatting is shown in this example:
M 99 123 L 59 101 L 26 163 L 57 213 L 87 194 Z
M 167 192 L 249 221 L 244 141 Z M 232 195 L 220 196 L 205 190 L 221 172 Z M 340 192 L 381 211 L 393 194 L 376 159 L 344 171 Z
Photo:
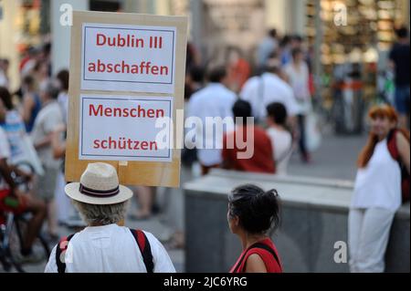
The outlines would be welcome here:
M 53 0 L 51 1 L 51 36 L 52 44 L 52 64 L 53 74 L 58 73 L 60 69 L 69 68 L 70 60 L 70 31 L 71 26 L 62 26 L 60 16 L 60 6 L 68 4 L 73 10 L 89 10 L 89 1 L 85 0 Z

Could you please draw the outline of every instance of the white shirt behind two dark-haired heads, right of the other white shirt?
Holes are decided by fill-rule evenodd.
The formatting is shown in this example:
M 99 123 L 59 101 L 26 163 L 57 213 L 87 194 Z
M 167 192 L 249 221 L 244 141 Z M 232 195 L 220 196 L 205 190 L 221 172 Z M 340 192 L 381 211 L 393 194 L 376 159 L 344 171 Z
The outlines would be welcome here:
M 300 113 L 299 104 L 290 85 L 271 73 L 248 79 L 241 90 L 240 98 L 251 103 L 253 116 L 257 119 L 267 116 L 267 106 L 273 102 L 283 104 L 289 116 Z

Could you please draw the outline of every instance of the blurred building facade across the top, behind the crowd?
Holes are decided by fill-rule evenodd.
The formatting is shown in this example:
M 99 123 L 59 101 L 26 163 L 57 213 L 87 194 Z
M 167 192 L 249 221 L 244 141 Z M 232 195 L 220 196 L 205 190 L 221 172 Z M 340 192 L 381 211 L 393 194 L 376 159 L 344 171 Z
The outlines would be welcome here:
M 68 68 L 70 27 L 60 23 L 67 4 L 78 10 L 188 16 L 189 39 L 205 58 L 224 58 L 230 46 L 252 61 L 269 28 L 300 34 L 313 47 L 318 75 L 349 57 L 373 58 L 373 51 L 385 51 L 395 41 L 395 24 L 409 26 L 408 0 L 3 0 L 0 57 L 11 61 L 13 88 L 25 48 L 47 38 L 53 40 L 53 71 Z M 343 7 L 347 25 L 336 26 L 339 16 L 343 23 Z

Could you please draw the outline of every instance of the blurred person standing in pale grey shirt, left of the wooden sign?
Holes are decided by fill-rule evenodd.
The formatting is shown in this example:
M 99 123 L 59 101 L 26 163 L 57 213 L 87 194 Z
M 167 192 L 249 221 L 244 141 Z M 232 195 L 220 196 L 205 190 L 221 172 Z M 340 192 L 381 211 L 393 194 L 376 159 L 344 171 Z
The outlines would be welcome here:
M 39 198 L 47 203 L 48 234 L 51 239 L 58 239 L 58 219 L 54 193 L 61 161 L 54 159 L 52 148 L 53 132 L 63 123 L 63 116 L 58 105 L 58 88 L 48 80 L 40 88 L 43 108 L 38 112 L 31 138 L 43 163 L 45 174 L 39 176 L 34 189 Z

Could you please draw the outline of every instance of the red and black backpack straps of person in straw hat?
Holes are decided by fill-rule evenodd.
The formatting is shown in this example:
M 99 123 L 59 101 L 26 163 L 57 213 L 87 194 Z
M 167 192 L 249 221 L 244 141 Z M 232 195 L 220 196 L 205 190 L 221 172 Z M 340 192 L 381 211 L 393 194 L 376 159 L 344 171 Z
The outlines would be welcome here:
M 134 237 L 137 245 L 139 246 L 140 252 L 142 252 L 142 260 L 144 261 L 147 273 L 153 273 L 153 254 L 147 236 L 141 230 L 134 230 L 130 228 L 130 232 L 132 233 L 132 237 Z M 58 243 L 58 247 L 56 248 L 56 264 L 58 266 L 58 273 L 66 272 L 64 254 L 67 251 L 68 242 L 73 238 L 74 235 L 75 234 L 70 234 L 68 236 L 65 236 Z

